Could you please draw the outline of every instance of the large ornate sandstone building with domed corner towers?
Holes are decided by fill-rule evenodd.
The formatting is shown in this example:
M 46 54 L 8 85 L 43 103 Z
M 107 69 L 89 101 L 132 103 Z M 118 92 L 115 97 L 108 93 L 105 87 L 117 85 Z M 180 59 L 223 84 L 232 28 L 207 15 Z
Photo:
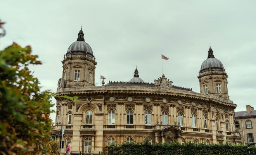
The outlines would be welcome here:
M 240 143 L 235 131 L 235 105 L 228 96 L 223 64 L 211 47 L 199 71 L 200 93 L 174 86 L 164 75 L 144 82 L 135 69 L 129 82 L 95 86 L 95 56 L 83 31 L 62 60 L 52 136 L 72 151 L 99 152 L 106 145 L 124 142 Z M 114 72 L 114 71 L 113 71 Z M 153 78 L 153 77 L 152 77 Z M 67 100 L 58 96 L 78 96 Z

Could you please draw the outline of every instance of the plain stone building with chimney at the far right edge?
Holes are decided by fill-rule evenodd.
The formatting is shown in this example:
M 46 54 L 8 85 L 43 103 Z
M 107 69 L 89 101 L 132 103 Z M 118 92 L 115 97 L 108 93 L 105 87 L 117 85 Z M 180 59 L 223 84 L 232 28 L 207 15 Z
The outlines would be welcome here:
M 245 145 L 255 145 L 256 139 L 256 110 L 246 105 L 246 111 L 235 112 L 235 129 L 242 137 Z

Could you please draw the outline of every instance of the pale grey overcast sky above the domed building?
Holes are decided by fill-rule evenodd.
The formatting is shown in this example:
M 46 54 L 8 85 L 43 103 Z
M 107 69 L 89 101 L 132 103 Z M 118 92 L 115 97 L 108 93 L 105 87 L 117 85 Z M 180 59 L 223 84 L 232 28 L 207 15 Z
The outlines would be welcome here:
M 83 25 L 96 56 L 96 84 L 129 81 L 137 65 L 145 82 L 164 74 L 174 85 L 199 92 L 198 71 L 209 43 L 228 74 L 235 111 L 256 108 L 255 0 L 1 0 L 7 34 L 0 49 L 31 45 L 43 65 L 31 67 L 43 90 L 57 90 L 64 54 Z M 54 107 L 55 109 L 55 107 Z M 55 120 L 55 114 L 51 115 Z

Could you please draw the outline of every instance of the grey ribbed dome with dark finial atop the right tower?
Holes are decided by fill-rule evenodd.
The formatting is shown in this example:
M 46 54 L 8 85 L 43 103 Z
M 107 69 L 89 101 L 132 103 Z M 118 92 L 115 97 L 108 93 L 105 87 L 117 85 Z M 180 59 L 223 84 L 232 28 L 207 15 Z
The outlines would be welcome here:
M 210 69 L 211 71 L 225 71 L 221 61 L 214 57 L 211 47 L 208 50 L 208 59 L 204 60 L 201 65 L 200 73 L 209 71 Z

